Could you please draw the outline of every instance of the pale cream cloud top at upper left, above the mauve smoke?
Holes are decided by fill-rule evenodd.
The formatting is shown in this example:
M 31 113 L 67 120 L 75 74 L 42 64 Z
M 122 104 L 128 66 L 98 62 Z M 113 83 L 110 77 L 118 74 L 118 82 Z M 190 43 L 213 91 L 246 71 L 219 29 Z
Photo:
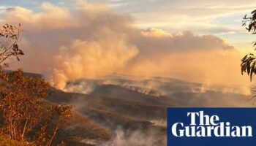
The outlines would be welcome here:
M 7 12 L 5 12 L 3 16 L 5 18 L 4 20 L 10 23 L 21 20 L 26 26 L 29 26 L 29 31 L 75 26 L 74 21 L 69 17 L 70 13 L 67 9 L 53 6 L 50 3 L 43 3 L 41 10 L 42 12 L 34 13 L 23 7 L 12 7 L 7 9 Z

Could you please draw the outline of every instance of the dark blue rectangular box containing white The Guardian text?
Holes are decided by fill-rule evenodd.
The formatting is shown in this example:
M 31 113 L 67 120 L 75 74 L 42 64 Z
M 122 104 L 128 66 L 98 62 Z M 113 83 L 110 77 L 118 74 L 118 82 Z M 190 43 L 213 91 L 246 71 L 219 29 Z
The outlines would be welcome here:
M 255 146 L 256 108 L 168 108 L 167 146 Z

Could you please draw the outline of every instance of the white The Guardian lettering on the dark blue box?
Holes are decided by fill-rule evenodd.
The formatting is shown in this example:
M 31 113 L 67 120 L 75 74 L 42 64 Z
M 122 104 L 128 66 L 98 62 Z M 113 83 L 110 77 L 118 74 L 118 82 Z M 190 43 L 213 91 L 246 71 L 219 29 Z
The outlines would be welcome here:
M 252 137 L 252 126 L 232 126 L 218 115 L 209 116 L 200 111 L 187 112 L 187 117 L 188 126 L 181 122 L 173 124 L 171 131 L 175 137 Z

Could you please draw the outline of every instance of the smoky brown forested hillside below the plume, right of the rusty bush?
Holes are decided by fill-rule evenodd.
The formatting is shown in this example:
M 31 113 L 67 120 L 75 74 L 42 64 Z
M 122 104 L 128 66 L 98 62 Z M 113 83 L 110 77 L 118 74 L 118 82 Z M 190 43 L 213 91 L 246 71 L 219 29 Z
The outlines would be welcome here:
M 52 88 L 46 99 L 71 104 L 75 113 L 57 139 L 69 145 L 161 146 L 166 145 L 167 107 L 252 106 L 246 103 L 249 96 L 217 90 L 198 92 L 200 84 L 193 82 L 128 78 L 77 80 L 69 82 L 69 92 Z M 149 83 L 154 88 L 149 88 Z M 91 90 L 83 93 L 83 88 Z

